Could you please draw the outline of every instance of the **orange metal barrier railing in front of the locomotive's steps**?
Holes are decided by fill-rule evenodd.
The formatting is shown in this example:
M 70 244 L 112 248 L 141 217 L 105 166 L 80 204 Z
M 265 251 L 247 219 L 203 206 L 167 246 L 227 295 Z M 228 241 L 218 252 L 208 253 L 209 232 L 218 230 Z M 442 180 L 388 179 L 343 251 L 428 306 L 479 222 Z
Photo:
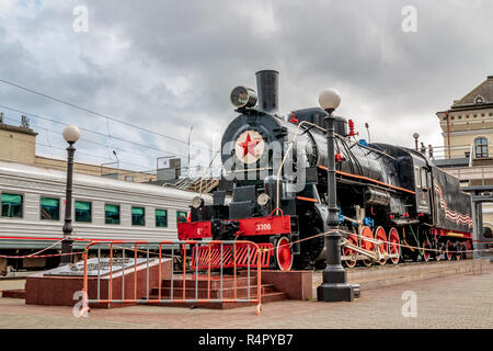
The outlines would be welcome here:
M 226 247 L 232 248 L 232 261 L 222 256 Z M 242 272 L 238 271 L 239 247 L 249 251 Z M 199 250 L 209 254 L 188 254 Z M 91 242 L 82 253 L 82 312 L 94 304 L 256 303 L 260 315 L 261 253 L 252 241 Z M 225 274 L 225 269 L 232 274 Z M 239 285 L 240 278 L 246 284 Z

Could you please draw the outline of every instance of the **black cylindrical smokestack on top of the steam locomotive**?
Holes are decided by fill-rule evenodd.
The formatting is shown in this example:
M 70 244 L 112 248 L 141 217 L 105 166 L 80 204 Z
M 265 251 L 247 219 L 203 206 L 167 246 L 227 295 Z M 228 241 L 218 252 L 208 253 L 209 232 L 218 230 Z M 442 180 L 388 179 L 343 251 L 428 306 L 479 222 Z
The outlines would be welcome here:
M 256 90 L 259 92 L 259 107 L 262 112 L 277 114 L 278 109 L 278 77 L 276 70 L 261 70 L 255 73 Z

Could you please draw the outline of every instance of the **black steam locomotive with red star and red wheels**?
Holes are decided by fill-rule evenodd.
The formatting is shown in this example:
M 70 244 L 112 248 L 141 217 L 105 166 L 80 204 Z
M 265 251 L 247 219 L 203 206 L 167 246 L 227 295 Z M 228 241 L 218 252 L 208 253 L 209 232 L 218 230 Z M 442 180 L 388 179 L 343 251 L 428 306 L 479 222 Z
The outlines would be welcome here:
M 328 219 L 326 112 L 278 115 L 278 72 L 256 73 L 257 92 L 237 87 L 239 115 L 222 136 L 225 172 L 213 204 L 194 199 L 179 238 L 257 242 L 264 267 L 323 263 Z M 259 102 L 259 103 L 257 103 Z M 459 181 L 412 149 L 356 139 L 354 124 L 335 122 L 342 259 L 347 267 L 465 258 L 472 247 L 470 196 Z

